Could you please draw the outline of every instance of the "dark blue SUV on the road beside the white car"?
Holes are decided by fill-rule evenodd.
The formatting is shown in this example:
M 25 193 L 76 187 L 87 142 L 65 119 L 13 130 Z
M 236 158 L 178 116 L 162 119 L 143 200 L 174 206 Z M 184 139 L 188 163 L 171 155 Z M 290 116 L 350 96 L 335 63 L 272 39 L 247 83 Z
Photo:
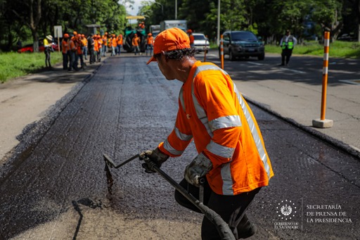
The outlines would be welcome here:
M 231 61 L 236 58 L 257 57 L 265 58 L 264 43 L 257 39 L 250 31 L 225 31 L 224 32 L 224 56 L 229 55 Z M 220 57 L 220 47 L 219 47 Z

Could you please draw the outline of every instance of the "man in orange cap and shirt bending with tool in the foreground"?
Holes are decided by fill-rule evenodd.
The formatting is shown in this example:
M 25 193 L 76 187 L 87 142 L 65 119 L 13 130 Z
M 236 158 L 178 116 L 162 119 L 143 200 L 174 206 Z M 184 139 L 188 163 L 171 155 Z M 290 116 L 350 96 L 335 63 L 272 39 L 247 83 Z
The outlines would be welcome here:
M 256 227 L 246 210 L 259 190 L 274 175 L 262 134 L 252 110 L 229 74 L 213 63 L 194 57 L 188 35 L 179 28 L 160 32 L 154 55 L 167 80 L 184 84 L 179 94 L 179 110 L 174 130 L 154 150 L 141 153 L 160 167 L 169 157 L 181 156 L 193 140 L 198 156 L 186 166 L 180 185 L 199 197 L 199 179 L 205 179 L 203 203 L 228 223 L 236 239 L 247 238 Z M 143 163 L 146 172 L 151 172 Z M 200 212 L 179 191 L 176 201 Z M 202 239 L 220 239 L 217 228 L 206 217 Z

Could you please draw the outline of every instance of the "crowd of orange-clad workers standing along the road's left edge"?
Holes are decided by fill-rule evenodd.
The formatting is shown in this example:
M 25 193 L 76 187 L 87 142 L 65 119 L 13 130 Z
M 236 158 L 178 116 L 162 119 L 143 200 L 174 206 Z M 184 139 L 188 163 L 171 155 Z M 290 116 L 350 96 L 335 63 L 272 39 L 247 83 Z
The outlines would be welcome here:
M 108 48 L 111 48 L 111 55 L 116 56 L 121 53 L 122 34 L 108 34 L 105 32 L 103 36 L 100 34 L 90 34 L 86 38 L 84 34 L 76 31 L 70 34 L 65 33 L 61 42 L 63 52 L 63 70 L 79 70 L 86 68 L 84 60 L 88 59 L 93 64 L 101 61 L 101 57 L 105 56 Z M 80 60 L 80 68 L 78 67 Z

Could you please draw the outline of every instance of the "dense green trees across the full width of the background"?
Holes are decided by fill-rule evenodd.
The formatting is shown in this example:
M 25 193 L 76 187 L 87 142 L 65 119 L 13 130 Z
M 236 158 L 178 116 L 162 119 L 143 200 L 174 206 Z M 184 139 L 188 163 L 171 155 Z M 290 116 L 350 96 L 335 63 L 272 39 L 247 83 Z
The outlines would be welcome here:
M 146 16 L 147 27 L 186 19 L 188 28 L 214 40 L 219 2 L 220 32 L 252 30 L 268 44 L 278 42 L 286 29 L 300 42 L 321 38 L 323 30 L 330 30 L 333 41 L 341 34 L 359 34 L 360 0 L 148 0 L 141 2 L 139 15 Z M 0 0 L 0 49 L 14 50 L 19 40 L 37 43 L 53 34 L 56 25 L 63 32 L 87 33 L 85 25 L 95 23 L 105 32 L 123 33 L 125 6 L 131 4 L 133 0 Z

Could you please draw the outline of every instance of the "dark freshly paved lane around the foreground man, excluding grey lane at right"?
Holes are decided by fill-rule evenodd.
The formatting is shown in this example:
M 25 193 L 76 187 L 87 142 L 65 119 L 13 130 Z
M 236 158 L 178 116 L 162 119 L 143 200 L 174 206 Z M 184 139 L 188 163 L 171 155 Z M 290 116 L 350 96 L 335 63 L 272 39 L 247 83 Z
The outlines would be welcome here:
M 39 141 L 22 143 L 27 151 L 1 168 L 2 239 L 200 239 L 202 216 L 177 206 L 173 189 L 146 175 L 139 162 L 113 170 L 115 184 L 106 183 L 103 152 L 117 160 L 132 156 L 155 147 L 173 127 L 181 84 L 145 61 L 109 58 L 75 96 L 65 97 L 60 113 L 37 123 Z M 356 239 L 359 160 L 252 108 L 276 174 L 250 208 L 259 226 L 252 239 Z M 163 170 L 181 179 L 194 155 L 191 146 Z M 281 213 L 285 206 L 289 215 L 283 214 L 289 208 Z M 289 225 L 297 229 L 282 228 Z

